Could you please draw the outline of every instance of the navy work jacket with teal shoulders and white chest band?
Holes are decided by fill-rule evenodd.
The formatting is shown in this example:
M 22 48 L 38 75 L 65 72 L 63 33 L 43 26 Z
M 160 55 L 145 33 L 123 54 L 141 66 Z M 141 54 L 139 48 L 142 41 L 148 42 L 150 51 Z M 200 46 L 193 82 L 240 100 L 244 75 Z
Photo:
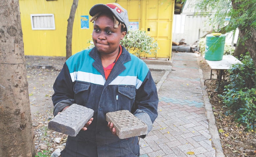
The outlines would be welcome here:
M 148 126 L 148 132 L 158 115 L 159 99 L 151 73 L 141 59 L 124 47 L 107 80 L 94 47 L 76 53 L 64 63 L 53 89 L 54 116 L 73 103 L 94 110 L 87 131 L 76 136 L 79 140 L 99 144 L 118 142 L 118 136 L 107 127 L 108 112 L 128 110 Z

